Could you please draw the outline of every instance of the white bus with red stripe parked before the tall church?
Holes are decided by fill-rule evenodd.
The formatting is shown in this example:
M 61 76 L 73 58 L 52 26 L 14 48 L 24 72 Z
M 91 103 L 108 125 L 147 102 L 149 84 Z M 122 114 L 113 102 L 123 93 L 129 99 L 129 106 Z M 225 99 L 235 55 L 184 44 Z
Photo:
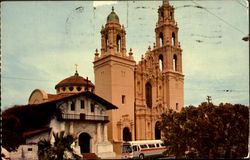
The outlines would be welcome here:
M 127 141 L 122 144 L 122 159 L 162 156 L 166 150 L 161 140 Z

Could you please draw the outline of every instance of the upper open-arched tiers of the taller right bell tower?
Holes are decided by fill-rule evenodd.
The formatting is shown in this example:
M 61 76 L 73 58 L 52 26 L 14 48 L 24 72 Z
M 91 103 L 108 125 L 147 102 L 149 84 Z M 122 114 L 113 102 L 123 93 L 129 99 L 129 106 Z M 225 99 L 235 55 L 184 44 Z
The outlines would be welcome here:
M 162 60 L 165 61 L 162 66 L 164 71 L 182 72 L 182 50 L 178 41 L 178 30 L 174 18 L 174 7 L 169 4 L 168 0 L 164 0 L 158 9 L 158 21 L 155 28 L 156 48 L 165 48 L 163 50 L 167 54 L 162 55 Z

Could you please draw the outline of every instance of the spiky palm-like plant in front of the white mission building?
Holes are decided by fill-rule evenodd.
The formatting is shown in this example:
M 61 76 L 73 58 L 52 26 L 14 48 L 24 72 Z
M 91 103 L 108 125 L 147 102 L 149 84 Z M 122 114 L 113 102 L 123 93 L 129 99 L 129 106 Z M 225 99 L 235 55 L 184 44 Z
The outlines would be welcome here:
M 71 154 L 74 159 L 80 158 L 71 147 L 76 138 L 72 135 L 64 136 L 64 131 L 61 131 L 59 134 L 53 132 L 53 137 L 55 140 L 53 145 L 51 145 L 50 140 L 40 140 L 38 142 L 39 159 L 61 160 L 69 158 L 67 153 Z

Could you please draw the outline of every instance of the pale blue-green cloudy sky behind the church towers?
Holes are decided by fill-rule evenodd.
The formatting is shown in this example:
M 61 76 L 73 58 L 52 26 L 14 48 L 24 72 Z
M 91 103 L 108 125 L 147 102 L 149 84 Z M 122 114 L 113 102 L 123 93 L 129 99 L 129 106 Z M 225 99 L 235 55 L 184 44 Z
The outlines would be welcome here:
M 155 42 L 162 1 L 23 1 L 1 6 L 2 110 L 28 103 L 31 92 L 55 94 L 75 73 L 94 83 L 95 49 L 114 6 L 136 62 Z M 249 106 L 249 13 L 246 0 L 170 1 L 179 27 L 184 106 L 212 102 Z

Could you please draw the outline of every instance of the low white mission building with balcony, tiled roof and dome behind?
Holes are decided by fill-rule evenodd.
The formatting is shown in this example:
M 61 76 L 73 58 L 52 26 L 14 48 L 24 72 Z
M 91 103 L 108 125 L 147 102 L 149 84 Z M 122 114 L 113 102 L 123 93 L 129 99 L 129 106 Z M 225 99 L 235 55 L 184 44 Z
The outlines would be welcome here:
M 24 143 L 17 152 L 11 152 L 11 159 L 38 159 L 38 142 L 47 139 L 54 143 L 53 133 L 60 132 L 77 139 L 73 149 L 80 157 L 89 156 L 88 153 L 95 153 L 100 158 L 115 157 L 113 145 L 108 141 L 110 119 L 106 113 L 117 107 L 96 95 L 94 84 L 80 76 L 77 70 L 73 76 L 60 81 L 55 89 L 56 94 L 35 89 L 28 105 L 21 107 L 39 112 L 43 117 L 38 120 L 40 125 L 23 132 Z M 52 118 L 44 114 L 48 109 Z

